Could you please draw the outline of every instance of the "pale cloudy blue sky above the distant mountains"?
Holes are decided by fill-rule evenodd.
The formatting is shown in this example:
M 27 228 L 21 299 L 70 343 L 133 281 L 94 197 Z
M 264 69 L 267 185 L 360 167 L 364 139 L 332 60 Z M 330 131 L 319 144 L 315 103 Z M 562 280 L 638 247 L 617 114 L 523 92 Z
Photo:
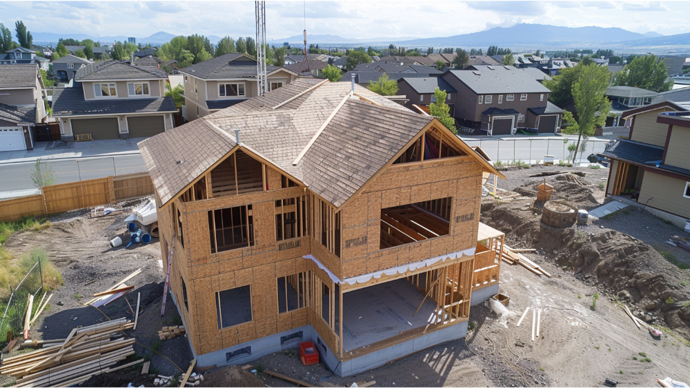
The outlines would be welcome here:
M 304 29 L 302 1 L 266 2 L 266 34 Z M 254 1 L 0 1 L 0 23 L 22 19 L 34 32 L 148 37 L 158 31 L 223 37 L 254 35 Z M 310 0 L 310 34 L 390 39 L 447 37 L 515 23 L 619 27 L 661 34 L 690 32 L 690 1 Z

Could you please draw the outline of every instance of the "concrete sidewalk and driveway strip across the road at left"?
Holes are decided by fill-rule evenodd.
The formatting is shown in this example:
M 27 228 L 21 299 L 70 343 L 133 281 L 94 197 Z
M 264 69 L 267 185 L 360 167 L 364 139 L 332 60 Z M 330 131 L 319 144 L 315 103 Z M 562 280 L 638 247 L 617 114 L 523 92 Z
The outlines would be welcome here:
M 8 163 L 26 163 L 36 159 L 75 159 L 91 156 L 116 156 L 139 154 L 137 143 L 146 139 L 95 140 L 79 142 L 44 141 L 35 143 L 32 151 L 4 151 L 0 152 L 0 165 Z

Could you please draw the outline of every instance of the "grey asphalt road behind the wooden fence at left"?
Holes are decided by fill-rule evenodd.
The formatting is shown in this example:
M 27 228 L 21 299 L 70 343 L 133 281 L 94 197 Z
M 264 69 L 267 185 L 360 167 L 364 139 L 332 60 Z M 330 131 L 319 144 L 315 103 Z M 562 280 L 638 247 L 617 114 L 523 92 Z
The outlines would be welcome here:
M 93 159 L 68 159 L 43 161 L 55 172 L 57 183 L 70 183 L 86 179 L 105 178 L 110 175 L 124 175 L 146 172 L 141 154 L 108 156 Z M 0 165 L 0 192 L 35 189 L 31 173 L 34 162 Z

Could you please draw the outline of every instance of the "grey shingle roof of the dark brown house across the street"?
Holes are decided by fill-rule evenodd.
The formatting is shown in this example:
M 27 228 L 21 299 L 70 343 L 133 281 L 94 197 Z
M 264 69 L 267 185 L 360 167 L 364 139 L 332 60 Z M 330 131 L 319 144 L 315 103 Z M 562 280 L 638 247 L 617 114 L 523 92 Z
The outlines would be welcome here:
M 449 70 L 477 94 L 549 93 L 551 90 L 535 79 L 535 73 L 513 66 L 475 66 L 478 70 Z

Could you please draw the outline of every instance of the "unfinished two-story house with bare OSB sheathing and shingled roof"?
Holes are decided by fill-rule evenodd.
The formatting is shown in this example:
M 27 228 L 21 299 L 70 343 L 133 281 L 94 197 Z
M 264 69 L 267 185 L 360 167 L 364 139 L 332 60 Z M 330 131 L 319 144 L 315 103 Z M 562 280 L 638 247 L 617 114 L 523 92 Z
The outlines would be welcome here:
M 351 376 L 462 338 L 498 290 L 503 234 L 479 219 L 502 174 L 366 88 L 297 79 L 139 147 L 202 367 L 311 340 Z

